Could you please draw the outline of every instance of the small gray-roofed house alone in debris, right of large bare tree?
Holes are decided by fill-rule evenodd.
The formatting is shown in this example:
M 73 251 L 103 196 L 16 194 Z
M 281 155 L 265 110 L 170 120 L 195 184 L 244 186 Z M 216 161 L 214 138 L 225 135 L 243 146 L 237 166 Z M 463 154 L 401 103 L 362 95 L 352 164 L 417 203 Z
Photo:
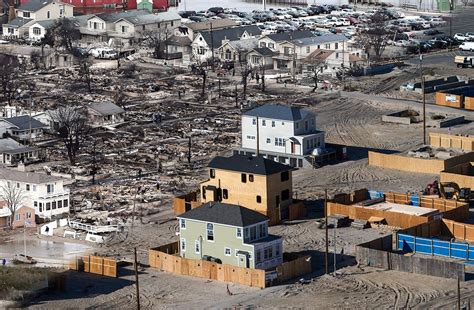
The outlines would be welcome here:
M 97 126 L 122 123 L 125 110 L 112 102 L 96 102 L 87 106 L 87 114 L 91 123 Z

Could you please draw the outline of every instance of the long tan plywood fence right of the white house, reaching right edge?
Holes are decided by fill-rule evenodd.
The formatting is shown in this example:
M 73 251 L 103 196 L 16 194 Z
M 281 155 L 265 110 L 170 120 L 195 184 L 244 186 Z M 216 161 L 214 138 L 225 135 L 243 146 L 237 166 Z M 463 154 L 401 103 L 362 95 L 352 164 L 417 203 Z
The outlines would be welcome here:
M 369 151 L 371 166 L 417 173 L 439 174 L 443 170 L 471 161 L 474 161 L 474 152 L 443 160 Z

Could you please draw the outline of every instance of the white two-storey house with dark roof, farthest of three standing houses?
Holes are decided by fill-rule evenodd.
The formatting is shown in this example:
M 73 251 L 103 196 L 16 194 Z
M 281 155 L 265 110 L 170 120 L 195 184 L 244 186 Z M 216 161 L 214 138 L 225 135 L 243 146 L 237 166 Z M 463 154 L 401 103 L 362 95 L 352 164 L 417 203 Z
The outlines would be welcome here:
M 257 125 L 258 124 L 258 125 Z M 265 104 L 242 114 L 242 154 L 255 154 L 303 167 L 314 149 L 325 148 L 324 132 L 316 129 L 309 110 Z M 309 164 L 309 162 L 308 162 Z

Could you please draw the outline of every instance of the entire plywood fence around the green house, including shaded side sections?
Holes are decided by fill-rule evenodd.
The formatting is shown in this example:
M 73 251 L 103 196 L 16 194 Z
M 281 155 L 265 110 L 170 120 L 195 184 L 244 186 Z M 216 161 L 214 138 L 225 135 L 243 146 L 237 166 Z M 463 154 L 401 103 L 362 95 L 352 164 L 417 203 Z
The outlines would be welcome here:
M 259 288 L 265 288 L 270 283 L 281 283 L 311 272 L 309 256 L 298 257 L 278 266 L 276 268 L 276 278 L 267 281 L 267 272 L 262 269 L 243 268 L 205 260 L 182 258 L 161 251 L 166 250 L 168 253 L 173 253 L 174 249 L 178 249 L 178 242 L 150 249 L 148 253 L 150 267 L 179 275 L 232 282 Z

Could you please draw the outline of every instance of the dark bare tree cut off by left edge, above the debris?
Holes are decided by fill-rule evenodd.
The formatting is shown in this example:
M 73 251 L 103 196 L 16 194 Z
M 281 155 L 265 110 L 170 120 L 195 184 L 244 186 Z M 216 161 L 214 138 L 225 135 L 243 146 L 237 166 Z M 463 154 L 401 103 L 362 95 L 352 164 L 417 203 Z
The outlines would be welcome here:
M 0 83 L 3 99 L 11 105 L 20 86 L 21 64 L 17 57 L 0 54 Z

